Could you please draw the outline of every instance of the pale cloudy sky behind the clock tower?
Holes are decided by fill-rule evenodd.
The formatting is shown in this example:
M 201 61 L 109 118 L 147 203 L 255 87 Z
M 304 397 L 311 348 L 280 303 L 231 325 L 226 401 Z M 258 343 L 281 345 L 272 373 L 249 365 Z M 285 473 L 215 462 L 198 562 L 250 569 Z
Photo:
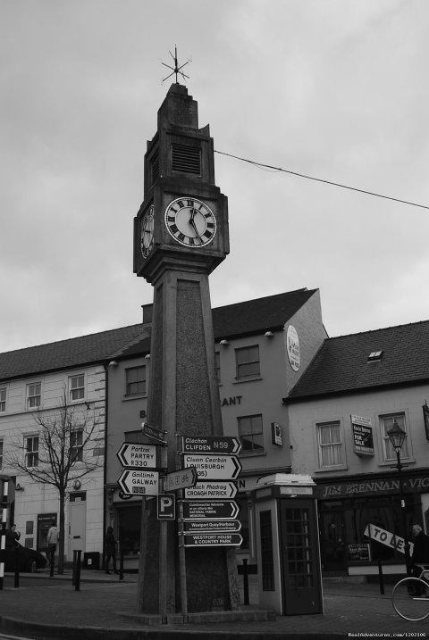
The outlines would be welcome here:
M 330 336 L 429 319 L 427 0 L 0 0 L 0 352 L 141 320 L 143 156 L 177 46 L 231 254 L 213 306 L 320 288 Z

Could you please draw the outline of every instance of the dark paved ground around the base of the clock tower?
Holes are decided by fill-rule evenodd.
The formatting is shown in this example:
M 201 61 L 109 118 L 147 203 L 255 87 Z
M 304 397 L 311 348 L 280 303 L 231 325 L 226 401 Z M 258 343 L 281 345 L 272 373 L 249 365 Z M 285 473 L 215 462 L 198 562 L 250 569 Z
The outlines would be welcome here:
M 251 577 L 254 578 L 254 577 Z M 80 591 L 71 585 L 71 575 L 49 578 L 21 576 L 19 589 L 13 576 L 0 591 L 0 631 L 34 638 L 67 640 L 306 640 L 321 636 L 340 640 L 350 634 L 393 634 L 428 637 L 429 618 L 411 623 L 393 611 L 391 586 L 381 595 L 375 584 L 324 583 L 324 614 L 277 616 L 254 622 L 216 622 L 198 625 L 155 625 L 142 623 L 137 611 L 137 576 L 106 576 L 99 571 L 82 571 Z M 257 608 L 257 586 L 250 580 L 250 605 Z M 368 637 L 368 636 L 366 636 Z

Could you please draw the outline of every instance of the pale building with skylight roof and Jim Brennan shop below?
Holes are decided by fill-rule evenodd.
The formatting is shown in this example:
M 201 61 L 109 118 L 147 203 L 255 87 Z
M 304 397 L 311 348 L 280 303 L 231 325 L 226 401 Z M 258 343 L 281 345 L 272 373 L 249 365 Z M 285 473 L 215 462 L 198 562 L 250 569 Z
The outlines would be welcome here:
M 329 338 L 283 400 L 292 469 L 317 484 L 325 573 L 401 572 L 412 524 L 429 530 L 428 356 L 429 322 Z

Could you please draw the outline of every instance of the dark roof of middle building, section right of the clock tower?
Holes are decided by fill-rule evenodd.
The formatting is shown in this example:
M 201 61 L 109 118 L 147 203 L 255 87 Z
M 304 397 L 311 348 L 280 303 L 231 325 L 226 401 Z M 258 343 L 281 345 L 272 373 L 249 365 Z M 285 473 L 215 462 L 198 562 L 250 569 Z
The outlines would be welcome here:
M 252 335 L 266 329 L 281 329 L 317 289 L 297 289 L 267 295 L 244 303 L 227 304 L 213 310 L 214 339 Z

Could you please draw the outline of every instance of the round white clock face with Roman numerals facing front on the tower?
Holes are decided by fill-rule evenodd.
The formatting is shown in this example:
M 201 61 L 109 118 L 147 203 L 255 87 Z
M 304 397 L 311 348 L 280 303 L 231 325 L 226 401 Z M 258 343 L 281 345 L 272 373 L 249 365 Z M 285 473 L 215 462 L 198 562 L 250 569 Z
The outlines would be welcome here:
M 214 212 L 197 198 L 177 198 L 165 210 L 165 226 L 183 246 L 198 248 L 212 242 L 216 234 Z

